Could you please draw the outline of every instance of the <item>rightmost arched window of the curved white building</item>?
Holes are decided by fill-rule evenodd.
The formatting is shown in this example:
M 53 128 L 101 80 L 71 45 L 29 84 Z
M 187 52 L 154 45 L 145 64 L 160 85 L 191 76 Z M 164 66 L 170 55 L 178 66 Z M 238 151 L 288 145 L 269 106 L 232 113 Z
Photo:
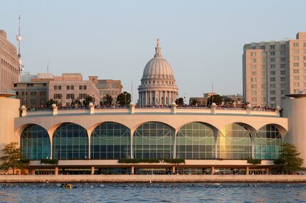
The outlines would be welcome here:
M 275 125 L 261 127 L 254 140 L 254 156 L 260 160 L 275 160 L 280 155 L 282 136 Z

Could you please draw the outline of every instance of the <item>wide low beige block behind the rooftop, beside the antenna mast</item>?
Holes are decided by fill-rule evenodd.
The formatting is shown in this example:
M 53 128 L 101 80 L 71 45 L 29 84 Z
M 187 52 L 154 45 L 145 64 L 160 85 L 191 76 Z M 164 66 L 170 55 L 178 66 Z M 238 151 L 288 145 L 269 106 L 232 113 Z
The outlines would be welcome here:
M 92 81 L 83 80 L 80 73 L 23 75 L 20 82 L 14 83 L 13 90 L 27 108 L 43 108 L 51 99 L 59 106 L 70 106 L 75 100 L 83 102 L 87 96 L 93 98 L 95 105 L 100 104 L 99 90 Z

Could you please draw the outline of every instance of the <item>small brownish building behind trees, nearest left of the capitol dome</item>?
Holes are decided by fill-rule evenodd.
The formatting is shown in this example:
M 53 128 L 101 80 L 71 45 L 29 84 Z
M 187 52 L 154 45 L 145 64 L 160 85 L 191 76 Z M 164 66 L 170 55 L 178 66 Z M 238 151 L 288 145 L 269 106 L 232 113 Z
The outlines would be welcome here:
M 89 80 L 92 81 L 100 92 L 100 100 L 103 100 L 105 95 L 112 96 L 112 104 L 115 105 L 117 101 L 117 95 L 122 93 L 121 80 L 100 80 L 97 76 L 88 76 Z

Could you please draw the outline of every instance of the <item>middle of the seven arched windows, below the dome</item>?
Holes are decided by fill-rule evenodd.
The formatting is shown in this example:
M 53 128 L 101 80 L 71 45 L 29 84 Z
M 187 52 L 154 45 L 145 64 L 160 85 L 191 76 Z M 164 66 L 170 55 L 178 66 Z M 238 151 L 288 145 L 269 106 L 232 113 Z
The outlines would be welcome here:
M 140 125 L 133 136 L 135 159 L 172 158 L 174 130 L 164 123 Z

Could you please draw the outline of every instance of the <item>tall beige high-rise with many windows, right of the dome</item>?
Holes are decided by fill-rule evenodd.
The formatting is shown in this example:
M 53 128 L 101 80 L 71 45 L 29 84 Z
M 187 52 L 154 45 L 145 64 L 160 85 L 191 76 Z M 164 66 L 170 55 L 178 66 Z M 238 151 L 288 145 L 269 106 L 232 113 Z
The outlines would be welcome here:
M 301 90 L 306 90 L 306 32 L 243 46 L 244 102 L 275 108 L 285 95 Z

